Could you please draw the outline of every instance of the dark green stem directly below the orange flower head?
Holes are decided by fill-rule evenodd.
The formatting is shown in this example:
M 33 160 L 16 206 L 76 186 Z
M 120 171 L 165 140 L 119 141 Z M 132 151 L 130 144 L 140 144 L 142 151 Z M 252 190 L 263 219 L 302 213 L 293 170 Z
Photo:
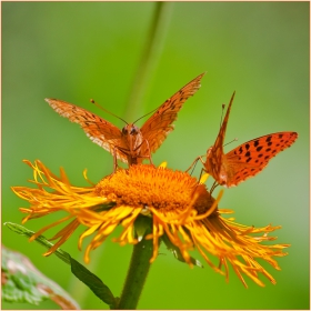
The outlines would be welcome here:
M 118 309 L 136 309 L 144 281 L 147 279 L 150 258 L 152 257 L 152 240 L 142 239 L 133 247 L 132 259 Z

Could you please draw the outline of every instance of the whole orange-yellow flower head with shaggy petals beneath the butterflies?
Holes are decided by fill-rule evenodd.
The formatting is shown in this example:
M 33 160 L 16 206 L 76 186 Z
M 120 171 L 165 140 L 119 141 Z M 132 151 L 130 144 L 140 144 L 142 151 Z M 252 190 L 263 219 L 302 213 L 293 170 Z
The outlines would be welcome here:
M 282 249 L 289 245 L 262 243 L 274 240 L 268 233 L 280 227 L 245 227 L 223 218 L 221 214 L 232 211 L 218 209 L 222 191 L 213 199 L 203 184 L 185 172 L 138 164 L 127 170 L 120 169 L 96 185 L 78 188 L 69 183 L 62 169 L 61 178 L 58 178 L 40 161 L 34 164 L 26 162 L 33 169 L 32 182 L 39 189 L 12 188 L 17 195 L 31 204 L 29 209 L 20 209 L 29 213 L 23 222 L 59 210 L 68 212 L 66 218 L 44 227 L 31 239 L 51 227 L 72 220 L 52 238 L 59 240 L 46 255 L 51 254 L 82 224 L 87 229 L 79 239 L 79 248 L 86 237 L 92 235 L 84 254 L 84 261 L 89 262 L 90 251 L 101 245 L 117 225 L 121 224 L 123 231 L 114 239 L 121 245 L 152 239 L 153 255 L 150 262 L 156 260 L 159 243 L 163 241 L 179 260 L 189 265 L 200 265 L 189 253 L 197 248 L 207 263 L 227 279 L 228 263 L 231 263 L 245 287 L 242 274 L 259 285 L 264 285 L 259 280 L 259 273 L 275 283 L 257 259 L 263 259 L 280 270 L 273 257 L 285 255 Z M 53 192 L 48 192 L 46 188 Z M 209 255 L 218 258 L 219 265 Z

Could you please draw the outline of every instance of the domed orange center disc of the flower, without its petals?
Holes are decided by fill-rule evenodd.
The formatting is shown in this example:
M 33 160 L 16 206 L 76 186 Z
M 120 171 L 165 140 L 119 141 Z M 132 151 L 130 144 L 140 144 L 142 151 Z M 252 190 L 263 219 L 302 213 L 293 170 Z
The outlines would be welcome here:
M 94 191 L 117 205 L 152 207 L 162 212 L 183 211 L 192 203 L 200 214 L 214 201 L 205 187 L 190 174 L 147 164 L 118 170 L 102 179 Z

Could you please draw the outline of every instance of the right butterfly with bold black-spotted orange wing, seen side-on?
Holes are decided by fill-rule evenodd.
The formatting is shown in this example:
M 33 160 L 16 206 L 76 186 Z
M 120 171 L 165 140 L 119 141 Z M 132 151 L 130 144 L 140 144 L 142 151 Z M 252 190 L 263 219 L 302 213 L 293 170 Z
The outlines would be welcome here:
M 234 94 L 235 92 L 229 102 L 217 140 L 207 151 L 205 162 L 201 159 L 204 171 L 214 178 L 215 183 L 227 188 L 257 175 L 273 157 L 291 147 L 298 138 L 297 132 L 272 133 L 244 142 L 224 154 L 223 142 Z

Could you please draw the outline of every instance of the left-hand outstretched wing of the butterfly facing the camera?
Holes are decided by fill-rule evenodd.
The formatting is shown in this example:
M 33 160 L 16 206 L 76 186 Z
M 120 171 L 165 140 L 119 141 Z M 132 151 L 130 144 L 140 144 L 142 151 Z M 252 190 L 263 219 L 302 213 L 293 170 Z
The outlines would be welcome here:
M 84 110 L 72 103 L 58 100 L 46 99 L 52 109 L 60 116 L 68 118 L 71 122 L 80 124 L 87 136 L 97 144 L 127 162 L 127 158 L 116 147 L 121 147 L 121 131 L 112 123 L 103 120 L 94 113 Z

